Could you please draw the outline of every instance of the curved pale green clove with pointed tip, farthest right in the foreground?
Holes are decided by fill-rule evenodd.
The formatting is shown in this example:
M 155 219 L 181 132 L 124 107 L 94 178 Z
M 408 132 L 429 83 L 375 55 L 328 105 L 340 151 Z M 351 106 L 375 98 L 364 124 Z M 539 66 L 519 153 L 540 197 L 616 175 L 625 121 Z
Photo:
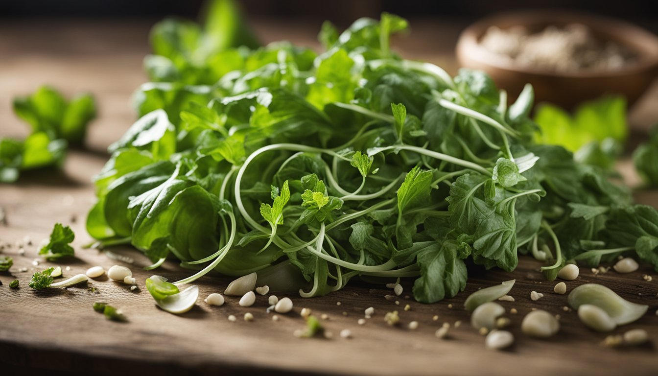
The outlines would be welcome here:
M 649 306 L 644 304 L 628 302 L 613 290 L 596 283 L 582 284 L 574 288 L 568 300 L 573 309 L 578 309 L 583 304 L 592 304 L 603 309 L 617 325 L 632 323 L 649 309 Z

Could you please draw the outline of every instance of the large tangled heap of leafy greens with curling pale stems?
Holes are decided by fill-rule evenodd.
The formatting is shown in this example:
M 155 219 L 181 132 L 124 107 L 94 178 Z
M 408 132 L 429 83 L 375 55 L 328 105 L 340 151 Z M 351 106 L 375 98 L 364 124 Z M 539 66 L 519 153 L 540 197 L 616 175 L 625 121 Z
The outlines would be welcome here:
M 484 72 L 401 59 L 390 36 L 405 28 L 385 13 L 342 34 L 325 23 L 319 54 L 209 53 L 198 26 L 158 24 L 164 55 L 148 59 L 140 118 L 95 177 L 89 234 L 132 244 L 151 268 L 174 255 L 198 270 L 179 285 L 292 265 L 305 297 L 415 277 L 415 298 L 436 302 L 469 268 L 513 271 L 519 253 L 546 259 L 549 279 L 620 254 L 658 268 L 658 213 L 536 144 L 532 87 L 508 107 Z M 169 68 L 154 69 L 161 58 Z

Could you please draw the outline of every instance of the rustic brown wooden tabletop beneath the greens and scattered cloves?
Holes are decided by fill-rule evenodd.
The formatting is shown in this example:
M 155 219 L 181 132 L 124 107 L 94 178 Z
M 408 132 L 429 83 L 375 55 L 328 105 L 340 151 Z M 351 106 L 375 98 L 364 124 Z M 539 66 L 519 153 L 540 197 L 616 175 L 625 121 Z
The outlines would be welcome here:
M 407 57 L 439 63 L 455 72 L 452 46 L 460 28 L 459 22 L 432 24 L 417 22 L 413 34 L 399 45 Z M 258 22 L 265 40 L 289 39 L 313 45 L 316 25 Z M 291 296 L 295 308 L 272 321 L 265 312 L 266 298 L 258 296 L 250 308 L 238 306 L 238 298 L 227 297 L 222 307 L 209 307 L 203 297 L 222 292 L 228 280 L 203 277 L 198 284 L 201 299 L 184 315 L 171 315 L 158 309 L 143 286 L 151 273 L 141 270 L 145 257 L 128 248 L 116 252 L 134 259 L 129 266 L 139 281 L 139 289 L 107 281 L 91 282 L 97 294 L 87 287 L 68 290 L 32 291 L 28 286 L 32 273 L 55 265 L 38 259 L 37 244 L 45 238 L 53 223 L 69 224 L 76 232 L 76 259 L 59 265 L 70 266 L 66 275 L 84 273 L 90 265 L 106 269 L 118 261 L 95 250 L 83 250 L 91 239 L 84 230 L 86 212 L 93 203 L 93 186 L 89 179 L 97 173 L 107 155 L 103 150 L 116 140 L 134 120 L 129 99 L 132 90 L 143 80 L 141 59 L 148 51 L 145 36 L 149 22 L 2 22 L 0 23 L 0 136 L 23 136 L 26 130 L 11 113 L 14 95 L 32 92 L 39 84 L 51 83 L 72 94 L 89 90 L 97 95 L 99 119 L 93 122 L 88 138 L 91 151 L 72 151 L 63 172 L 38 171 L 21 177 L 17 184 L 0 185 L 0 207 L 7 215 L 7 225 L 0 225 L 0 242 L 9 243 L 4 254 L 14 257 L 10 273 L 0 273 L 0 369 L 12 374 L 32 374 L 47 369 L 50 374 L 117 374 L 129 371 L 164 375 L 237 374 L 259 371 L 263 374 L 299 375 L 472 375 L 472 374 L 555 374 L 576 375 L 585 372 L 619 375 L 620 373 L 655 374 L 658 365 L 653 344 L 640 348 L 610 349 L 600 346 L 605 334 L 586 329 L 573 311 L 563 311 L 567 296 L 553 293 L 553 282 L 545 282 L 536 261 L 520 259 L 514 273 L 490 271 L 486 275 L 469 276 L 465 292 L 457 298 L 438 304 L 418 304 L 405 299 L 413 281 L 405 281 L 405 293 L 399 306 L 386 300 L 392 290 L 372 286 L 350 286 L 330 296 L 304 300 Z M 636 129 L 642 130 L 658 119 L 655 107 L 657 86 L 630 114 Z M 653 103 L 653 105 L 652 105 Z M 628 163 L 622 163 L 624 178 L 636 184 Z M 638 200 L 658 204 L 658 196 L 642 191 Z M 18 255 L 16 242 L 32 240 L 25 245 L 26 254 Z M 27 267 L 28 271 L 19 272 Z M 177 279 L 188 275 L 174 263 L 167 263 L 157 273 Z M 644 281 L 642 276 L 654 276 Z M 636 273 L 619 275 L 614 271 L 594 275 L 586 269 L 576 281 L 567 282 L 569 290 L 586 283 L 610 286 L 622 297 L 649 305 L 649 313 L 639 321 L 617 329 L 643 328 L 653 343 L 658 343 L 658 276 L 643 266 Z M 11 280 L 21 281 L 20 289 L 7 286 Z M 484 338 L 468 324 L 468 313 L 462 304 L 468 294 L 483 286 L 507 279 L 517 279 L 511 295 L 516 302 L 501 302 L 512 320 L 515 346 L 504 352 L 484 348 Z M 537 302 L 530 292 L 544 293 Z M 107 321 L 95 313 L 91 305 L 105 301 L 122 308 L 128 323 Z M 340 302 L 340 306 L 337 303 Z M 409 304 L 410 311 L 403 311 Z M 375 314 L 365 325 L 357 325 L 365 308 Z M 301 308 L 313 313 L 326 313 L 324 321 L 332 339 L 299 339 L 292 333 L 301 329 Z M 452 307 L 452 308 L 450 308 Z M 509 313 L 516 308 L 517 314 Z M 549 340 L 536 340 L 520 333 L 520 321 L 532 308 L 546 309 L 561 315 L 561 332 Z M 397 309 L 399 327 L 388 327 L 384 313 Z M 241 318 L 246 312 L 252 322 Z M 347 315 L 343 315 L 343 312 Z M 238 321 L 228 321 L 228 315 Z M 438 315 L 438 321 L 432 317 Z M 418 321 L 415 331 L 407 329 L 410 321 Z M 462 325 L 455 329 L 455 322 Z M 451 324 L 451 336 L 440 340 L 434 331 L 442 323 Z M 351 329 L 352 339 L 338 336 Z M 8 368 L 9 367 L 9 368 Z M 5 374 L 4 372 L 2 373 Z M 9 373 L 8 373 L 9 374 Z

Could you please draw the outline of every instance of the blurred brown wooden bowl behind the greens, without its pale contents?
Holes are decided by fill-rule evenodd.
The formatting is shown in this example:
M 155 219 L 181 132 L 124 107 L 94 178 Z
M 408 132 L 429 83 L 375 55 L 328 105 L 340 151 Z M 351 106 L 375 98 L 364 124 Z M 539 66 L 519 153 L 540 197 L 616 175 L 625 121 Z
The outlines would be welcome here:
M 571 23 L 588 26 L 599 40 L 615 41 L 629 48 L 638 55 L 638 61 L 616 70 L 556 72 L 516 65 L 479 43 L 490 26 L 501 29 L 524 26 L 530 32 L 538 32 L 549 25 Z M 547 101 L 572 109 L 582 101 L 603 94 L 621 94 L 630 106 L 658 76 L 658 38 L 628 22 L 592 14 L 567 11 L 505 13 L 484 18 L 464 30 L 457 42 L 457 59 L 462 67 L 488 72 L 499 88 L 507 90 L 511 101 L 530 82 L 534 86 L 536 103 Z

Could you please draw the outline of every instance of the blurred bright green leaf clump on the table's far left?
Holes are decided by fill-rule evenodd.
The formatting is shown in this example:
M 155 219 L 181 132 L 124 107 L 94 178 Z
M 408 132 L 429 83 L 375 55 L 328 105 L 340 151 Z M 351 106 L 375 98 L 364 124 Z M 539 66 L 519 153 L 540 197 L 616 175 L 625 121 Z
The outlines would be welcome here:
M 0 182 L 15 182 L 23 170 L 61 166 L 67 146 L 81 145 L 89 121 L 96 117 L 91 95 L 76 95 L 69 101 L 49 86 L 15 98 L 13 107 L 32 133 L 25 140 L 0 138 Z

